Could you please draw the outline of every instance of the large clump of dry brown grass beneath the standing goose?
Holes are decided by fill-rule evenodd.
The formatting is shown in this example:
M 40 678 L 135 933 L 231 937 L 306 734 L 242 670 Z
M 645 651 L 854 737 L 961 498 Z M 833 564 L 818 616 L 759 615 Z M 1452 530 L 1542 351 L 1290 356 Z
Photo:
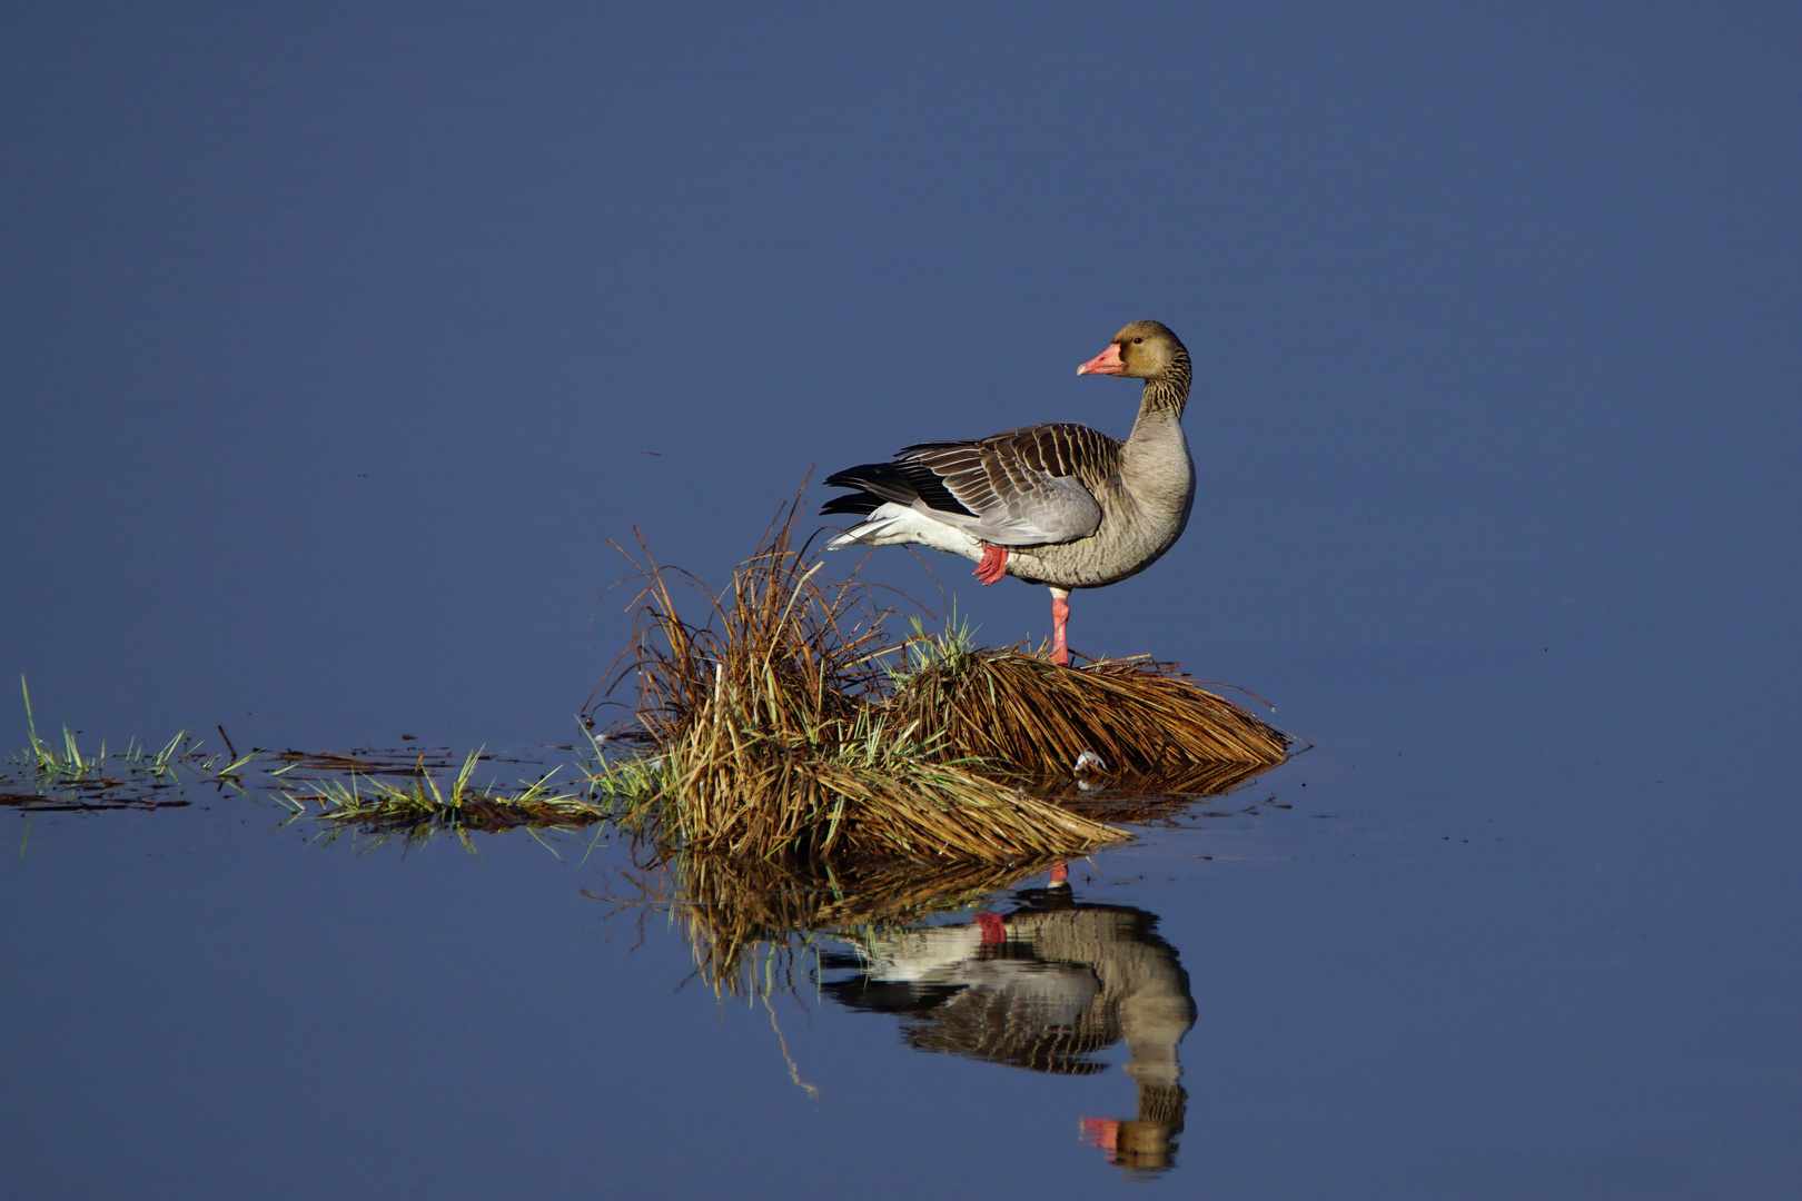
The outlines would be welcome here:
M 1189 681 L 1128 659 L 1072 672 L 968 630 L 894 645 L 870 585 L 834 582 L 793 544 L 800 501 L 724 594 L 640 569 L 625 749 L 595 774 L 669 848 L 759 859 L 1024 862 L 1126 834 L 1047 799 L 1043 781 L 1108 769 L 1245 776 L 1288 736 Z M 705 598 L 679 616 L 672 582 Z M 609 688 L 611 695 L 611 688 Z M 600 742 L 596 742 L 600 745 Z M 1081 765 L 1081 767 L 1079 767 Z

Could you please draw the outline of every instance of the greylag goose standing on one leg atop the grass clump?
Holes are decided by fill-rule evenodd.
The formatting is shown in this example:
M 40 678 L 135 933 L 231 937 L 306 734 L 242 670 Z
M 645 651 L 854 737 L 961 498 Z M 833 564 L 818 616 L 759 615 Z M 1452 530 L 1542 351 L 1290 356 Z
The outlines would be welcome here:
M 892 463 L 827 477 L 854 492 L 822 513 L 861 522 L 825 544 L 930 546 L 977 560 L 975 576 L 1051 589 L 1051 659 L 1069 666 L 1070 589 L 1099 589 L 1155 564 L 1195 502 L 1182 438 L 1189 351 L 1155 321 L 1135 321 L 1076 375 L 1144 380 L 1126 441 L 1087 425 L 1027 425 L 977 441 L 915 443 Z

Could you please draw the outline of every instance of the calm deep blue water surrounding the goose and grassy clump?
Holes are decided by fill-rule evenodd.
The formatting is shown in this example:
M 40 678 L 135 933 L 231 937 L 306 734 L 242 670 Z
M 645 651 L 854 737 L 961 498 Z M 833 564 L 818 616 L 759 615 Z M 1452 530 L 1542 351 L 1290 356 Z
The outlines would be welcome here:
M 1070 1196 L 1135 1179 L 1090 1143 L 1150 1097 L 1184 1194 L 1797 1196 L 1798 32 L 23 5 L 0 682 L 40 729 L 569 742 L 631 628 L 609 538 L 719 583 L 809 468 L 1124 434 L 1074 367 L 1155 317 L 1197 515 L 1072 646 L 1315 749 L 1067 906 L 995 897 L 998 942 L 827 944 L 769 1007 L 584 895 L 613 843 L 0 808 L 0 1190 Z M 933 567 L 869 573 L 1047 632 Z

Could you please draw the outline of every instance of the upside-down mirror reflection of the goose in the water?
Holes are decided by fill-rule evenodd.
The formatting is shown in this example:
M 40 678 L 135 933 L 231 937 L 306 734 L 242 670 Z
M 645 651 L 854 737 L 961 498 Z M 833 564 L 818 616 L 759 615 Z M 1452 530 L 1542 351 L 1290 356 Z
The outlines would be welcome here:
M 1061 873 L 1060 873 L 1061 875 Z M 1083 1138 L 1137 1170 L 1171 1167 L 1188 1093 L 1177 1046 L 1195 1025 L 1189 974 L 1157 917 L 1085 904 L 1065 882 L 1013 895 L 1007 913 L 869 935 L 824 967 L 840 1003 L 901 1019 L 908 1046 L 1029 1071 L 1094 1075 L 1124 1041 L 1135 1118 L 1083 1118 Z

